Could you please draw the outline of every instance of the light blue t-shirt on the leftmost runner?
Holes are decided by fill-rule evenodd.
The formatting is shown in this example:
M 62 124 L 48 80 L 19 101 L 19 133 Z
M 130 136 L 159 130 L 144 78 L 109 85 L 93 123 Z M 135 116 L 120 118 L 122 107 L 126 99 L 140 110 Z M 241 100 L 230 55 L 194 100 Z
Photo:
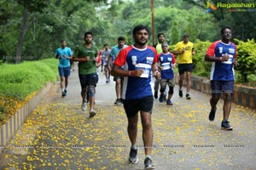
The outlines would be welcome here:
M 73 55 L 73 52 L 71 50 L 71 48 L 57 48 L 56 52 L 55 52 L 55 56 L 59 56 L 61 57 L 59 59 L 59 67 L 68 67 L 70 66 L 70 61 L 69 59 L 64 58 L 64 56 L 70 57 L 71 55 Z

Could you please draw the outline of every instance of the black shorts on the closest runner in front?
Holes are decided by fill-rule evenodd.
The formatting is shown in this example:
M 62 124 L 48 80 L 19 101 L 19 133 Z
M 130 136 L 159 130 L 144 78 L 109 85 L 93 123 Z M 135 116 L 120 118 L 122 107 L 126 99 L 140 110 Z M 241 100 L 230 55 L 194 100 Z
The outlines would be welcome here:
M 138 111 L 152 113 L 154 99 L 153 96 L 146 96 L 142 99 L 124 99 L 125 113 L 128 118 L 136 116 Z

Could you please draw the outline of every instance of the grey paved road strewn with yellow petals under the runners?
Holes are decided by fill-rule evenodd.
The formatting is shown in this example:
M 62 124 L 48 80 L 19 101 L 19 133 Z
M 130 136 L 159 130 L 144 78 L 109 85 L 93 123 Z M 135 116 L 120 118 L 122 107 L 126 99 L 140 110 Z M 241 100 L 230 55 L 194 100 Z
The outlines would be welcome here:
M 125 111 L 113 106 L 114 82 L 107 84 L 99 74 L 95 117 L 80 109 L 79 77 L 73 71 L 68 96 L 61 98 L 59 83 L 51 89 L 3 150 L 0 169 L 143 169 L 142 126 L 137 137 L 139 162 L 131 165 Z M 176 87 L 174 105 L 154 102 L 156 169 L 256 169 L 256 111 L 232 105 L 234 130 L 223 131 L 222 101 L 215 121 L 209 122 L 210 96 L 194 90 L 191 96 L 179 98 Z

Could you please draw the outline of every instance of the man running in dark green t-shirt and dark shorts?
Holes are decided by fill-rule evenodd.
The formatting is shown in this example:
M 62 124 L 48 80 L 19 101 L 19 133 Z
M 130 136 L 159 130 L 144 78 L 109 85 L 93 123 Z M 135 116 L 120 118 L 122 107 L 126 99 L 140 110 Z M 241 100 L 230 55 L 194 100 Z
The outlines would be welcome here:
M 96 74 L 96 62 L 98 62 L 98 49 L 92 44 L 92 33 L 87 31 L 84 33 L 84 44 L 76 48 L 76 53 L 73 57 L 74 61 L 79 61 L 79 80 L 81 84 L 82 96 L 82 111 L 86 110 L 86 91 L 90 95 L 90 116 L 95 116 L 94 111 L 95 102 L 95 87 L 98 81 Z

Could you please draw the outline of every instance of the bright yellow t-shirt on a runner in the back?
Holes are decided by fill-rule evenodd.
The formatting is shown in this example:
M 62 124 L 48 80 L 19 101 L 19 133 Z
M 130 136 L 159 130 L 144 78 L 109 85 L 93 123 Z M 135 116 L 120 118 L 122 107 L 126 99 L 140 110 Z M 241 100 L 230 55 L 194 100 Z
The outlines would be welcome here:
M 183 48 L 186 50 L 183 54 L 178 54 L 177 63 L 179 64 L 190 64 L 192 63 L 192 51 L 194 48 L 193 42 L 177 42 L 174 51 L 182 51 Z

